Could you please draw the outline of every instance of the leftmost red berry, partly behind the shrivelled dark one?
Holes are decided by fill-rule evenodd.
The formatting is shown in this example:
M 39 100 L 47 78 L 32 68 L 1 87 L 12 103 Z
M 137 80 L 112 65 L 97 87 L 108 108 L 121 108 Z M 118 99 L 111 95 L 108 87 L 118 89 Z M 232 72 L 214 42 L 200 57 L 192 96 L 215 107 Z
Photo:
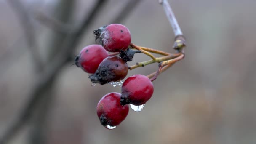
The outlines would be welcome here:
M 94 73 L 107 56 L 107 51 L 101 45 L 88 45 L 75 58 L 75 64 L 85 72 Z

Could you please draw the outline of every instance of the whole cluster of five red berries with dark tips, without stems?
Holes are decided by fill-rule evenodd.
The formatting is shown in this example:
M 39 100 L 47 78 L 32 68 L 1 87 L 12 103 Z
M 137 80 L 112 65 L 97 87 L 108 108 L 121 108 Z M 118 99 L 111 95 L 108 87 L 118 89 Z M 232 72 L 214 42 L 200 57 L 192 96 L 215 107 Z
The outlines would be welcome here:
M 93 31 L 101 45 L 88 45 L 75 58 L 77 67 L 90 73 L 93 83 L 104 85 L 123 80 L 128 73 L 127 61 L 135 53 L 131 44 L 131 33 L 122 24 L 110 24 Z M 108 54 L 109 52 L 113 52 Z M 119 56 L 115 56 L 119 54 Z M 144 75 L 128 77 L 121 88 L 121 93 L 108 93 L 97 105 L 97 115 L 101 124 L 108 129 L 119 125 L 128 115 L 129 107 L 141 106 L 151 98 L 154 88 L 152 81 Z M 139 110 L 137 110 L 139 111 Z

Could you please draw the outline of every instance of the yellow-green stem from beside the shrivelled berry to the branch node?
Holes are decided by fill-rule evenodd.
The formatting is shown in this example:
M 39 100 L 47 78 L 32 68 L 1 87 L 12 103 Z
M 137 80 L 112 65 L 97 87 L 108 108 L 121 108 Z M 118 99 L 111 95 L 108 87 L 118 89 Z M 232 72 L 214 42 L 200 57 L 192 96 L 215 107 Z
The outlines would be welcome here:
M 129 67 L 129 69 L 133 70 L 133 69 L 135 69 L 137 67 L 144 67 L 146 65 L 153 64 L 155 62 L 168 61 L 168 60 L 174 59 L 176 57 L 179 57 L 181 55 L 182 55 L 182 53 L 173 53 L 173 54 L 170 53 L 168 56 L 158 57 L 155 60 L 151 59 L 151 60 L 148 60 L 148 61 L 143 61 L 143 62 L 136 63 L 135 65 Z

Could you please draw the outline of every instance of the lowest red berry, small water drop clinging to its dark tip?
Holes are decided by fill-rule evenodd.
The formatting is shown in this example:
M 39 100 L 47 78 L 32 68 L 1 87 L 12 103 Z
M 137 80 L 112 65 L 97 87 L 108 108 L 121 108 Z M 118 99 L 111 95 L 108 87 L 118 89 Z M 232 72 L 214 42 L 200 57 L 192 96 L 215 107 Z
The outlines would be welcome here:
M 97 105 L 97 115 L 101 124 L 107 128 L 107 125 L 117 126 L 128 115 L 129 106 L 121 106 L 120 93 L 108 93 L 101 98 Z

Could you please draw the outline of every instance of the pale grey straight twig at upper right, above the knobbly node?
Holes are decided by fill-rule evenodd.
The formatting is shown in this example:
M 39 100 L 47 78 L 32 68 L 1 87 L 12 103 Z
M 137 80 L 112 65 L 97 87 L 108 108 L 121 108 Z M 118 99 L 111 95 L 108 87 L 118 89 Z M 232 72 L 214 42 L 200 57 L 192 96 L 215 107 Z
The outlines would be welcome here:
M 163 6 L 163 9 L 165 10 L 165 14 L 171 24 L 171 27 L 173 28 L 175 36 L 183 35 L 181 32 L 181 28 L 179 27 L 178 21 L 176 20 L 176 17 L 171 9 L 171 6 L 168 3 L 168 0 L 159 0 L 159 3 Z

